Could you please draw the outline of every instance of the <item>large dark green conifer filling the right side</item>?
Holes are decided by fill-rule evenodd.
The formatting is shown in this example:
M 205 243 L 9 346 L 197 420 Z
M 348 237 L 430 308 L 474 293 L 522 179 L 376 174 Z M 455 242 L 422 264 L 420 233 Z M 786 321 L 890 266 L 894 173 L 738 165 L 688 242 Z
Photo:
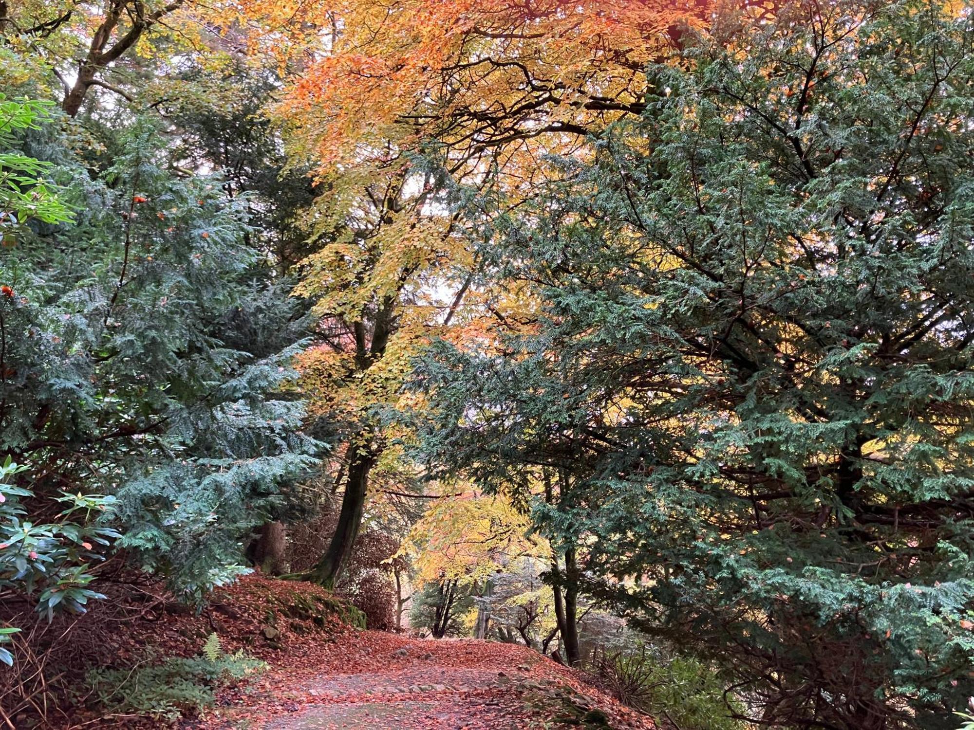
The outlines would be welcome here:
M 974 693 L 972 40 L 935 4 L 729 11 L 590 160 L 462 209 L 543 304 L 435 347 L 426 455 L 560 471 L 535 516 L 585 590 L 764 724 L 953 727 Z

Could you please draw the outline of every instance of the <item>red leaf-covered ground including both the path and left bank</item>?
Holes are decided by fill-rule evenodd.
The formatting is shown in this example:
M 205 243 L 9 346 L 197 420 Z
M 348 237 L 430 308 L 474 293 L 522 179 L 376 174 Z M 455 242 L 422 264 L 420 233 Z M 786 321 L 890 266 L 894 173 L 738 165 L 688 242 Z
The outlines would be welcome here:
M 267 663 L 218 689 L 202 716 L 177 723 L 186 729 L 655 727 L 525 646 L 362 631 L 352 625 L 354 608 L 308 583 L 247 576 L 217 590 L 202 613 L 143 587 L 119 591 L 92 614 L 72 635 L 76 645 L 91 644 L 83 652 L 88 667 L 128 674 L 166 657 L 197 656 L 212 634 L 221 651 Z M 91 693 L 52 710 L 46 722 L 86 730 L 169 726 L 98 705 Z

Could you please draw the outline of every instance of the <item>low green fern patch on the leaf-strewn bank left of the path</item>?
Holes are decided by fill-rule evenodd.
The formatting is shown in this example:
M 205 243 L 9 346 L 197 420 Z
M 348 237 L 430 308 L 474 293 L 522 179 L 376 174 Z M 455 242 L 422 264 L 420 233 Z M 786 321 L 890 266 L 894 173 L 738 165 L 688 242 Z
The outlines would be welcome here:
M 199 656 L 170 657 L 126 669 L 93 670 L 86 683 L 99 706 L 108 712 L 171 721 L 212 707 L 217 688 L 266 667 L 243 651 L 223 651 L 219 637 L 210 634 Z

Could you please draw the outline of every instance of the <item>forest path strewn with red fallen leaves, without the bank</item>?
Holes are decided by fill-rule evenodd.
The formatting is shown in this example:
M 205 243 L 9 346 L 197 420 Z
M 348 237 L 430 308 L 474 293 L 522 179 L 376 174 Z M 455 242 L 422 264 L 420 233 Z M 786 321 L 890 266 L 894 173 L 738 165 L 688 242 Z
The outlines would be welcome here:
M 355 632 L 291 649 L 249 688 L 221 698 L 213 727 L 256 730 L 642 728 L 580 675 L 524 646 Z M 606 724 L 608 721 L 608 724 Z

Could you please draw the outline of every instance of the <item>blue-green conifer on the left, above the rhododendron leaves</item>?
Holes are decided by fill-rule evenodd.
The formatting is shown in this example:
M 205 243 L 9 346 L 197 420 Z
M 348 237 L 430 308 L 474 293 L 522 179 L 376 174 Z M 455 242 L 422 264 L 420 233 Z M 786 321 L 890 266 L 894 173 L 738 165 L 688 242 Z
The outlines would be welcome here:
M 49 154 L 74 219 L 0 250 L 0 454 L 40 496 L 113 495 L 116 547 L 200 598 L 320 444 L 286 391 L 298 303 L 249 245 L 245 199 L 174 170 L 167 141 L 135 119 L 93 179 L 52 126 L 10 140 Z

